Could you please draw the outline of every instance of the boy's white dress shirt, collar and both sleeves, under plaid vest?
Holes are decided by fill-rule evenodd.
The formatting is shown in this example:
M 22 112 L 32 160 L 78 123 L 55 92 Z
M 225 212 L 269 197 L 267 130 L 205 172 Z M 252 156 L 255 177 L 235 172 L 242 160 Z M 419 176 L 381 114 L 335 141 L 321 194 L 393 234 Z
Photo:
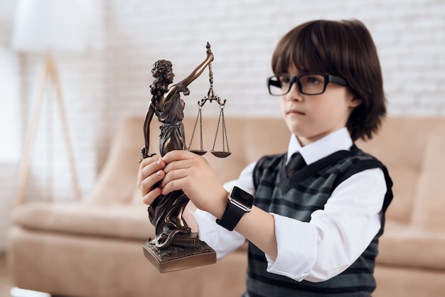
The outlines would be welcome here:
M 349 150 L 353 141 L 346 128 L 339 129 L 312 144 L 301 147 L 292 135 L 287 151 L 290 156 L 299 151 L 309 165 L 331 153 Z M 247 166 L 234 185 L 254 195 L 252 173 L 255 163 Z M 267 271 L 296 281 L 326 281 L 341 274 L 365 251 L 380 229 L 380 211 L 387 191 L 385 176 L 380 168 L 352 175 L 333 191 L 323 210 L 316 210 L 310 222 L 301 222 L 272 213 L 275 220 L 278 256 L 266 254 Z M 236 231 L 216 224 L 208 212 L 193 214 L 199 226 L 200 239 L 225 257 L 245 243 Z

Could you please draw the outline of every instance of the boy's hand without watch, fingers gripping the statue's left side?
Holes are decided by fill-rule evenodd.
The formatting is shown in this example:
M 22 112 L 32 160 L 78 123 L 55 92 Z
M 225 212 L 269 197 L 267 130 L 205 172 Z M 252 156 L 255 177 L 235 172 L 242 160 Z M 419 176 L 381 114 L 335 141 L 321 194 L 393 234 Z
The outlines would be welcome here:
M 139 165 L 137 187 L 141 190 L 144 203 L 147 205 L 150 205 L 161 194 L 159 182 L 165 176 L 162 170 L 165 166 L 166 163 L 157 156 L 144 158 Z

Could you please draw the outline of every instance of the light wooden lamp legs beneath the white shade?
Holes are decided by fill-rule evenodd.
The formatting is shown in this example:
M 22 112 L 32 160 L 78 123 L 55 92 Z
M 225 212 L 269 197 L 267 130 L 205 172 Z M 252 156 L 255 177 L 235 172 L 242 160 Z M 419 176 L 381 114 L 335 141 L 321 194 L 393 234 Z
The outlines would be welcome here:
M 62 121 L 62 134 L 68 153 L 68 162 L 70 164 L 71 181 L 73 183 L 75 200 L 80 200 L 79 180 L 77 180 L 73 147 L 71 145 L 70 134 L 68 131 L 68 121 L 65 113 L 65 106 L 63 104 L 62 89 L 60 87 L 58 70 L 55 66 L 55 61 L 53 60 L 53 58 L 47 55 L 47 57 L 45 58 L 45 63 L 43 65 L 43 72 L 38 82 L 36 99 L 34 100 L 33 108 L 31 110 L 31 118 L 28 121 L 28 129 L 26 131 L 25 141 L 23 143 L 23 158 L 18 175 L 18 193 L 16 198 L 16 205 L 21 205 L 25 198 L 26 185 L 28 184 L 29 169 L 31 166 L 33 144 L 36 138 L 38 119 L 41 114 L 41 107 L 43 103 L 43 91 L 45 90 L 45 84 L 49 80 L 52 80 L 53 85 L 55 86 L 60 119 Z

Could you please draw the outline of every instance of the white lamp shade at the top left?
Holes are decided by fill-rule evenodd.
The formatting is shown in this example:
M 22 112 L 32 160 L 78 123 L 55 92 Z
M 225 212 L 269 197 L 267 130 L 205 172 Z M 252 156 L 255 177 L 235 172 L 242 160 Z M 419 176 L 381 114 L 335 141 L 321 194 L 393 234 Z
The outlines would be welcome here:
M 80 53 L 87 47 L 84 21 L 75 0 L 18 0 L 11 46 L 21 52 Z

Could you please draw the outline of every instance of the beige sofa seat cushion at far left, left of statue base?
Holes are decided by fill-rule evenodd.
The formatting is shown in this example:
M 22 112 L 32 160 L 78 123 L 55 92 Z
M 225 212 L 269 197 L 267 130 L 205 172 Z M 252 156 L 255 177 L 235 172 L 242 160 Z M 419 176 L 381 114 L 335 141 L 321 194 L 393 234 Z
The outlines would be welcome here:
M 33 202 L 13 213 L 23 228 L 94 237 L 141 239 L 154 237 L 146 207 L 136 205 L 48 204 Z

